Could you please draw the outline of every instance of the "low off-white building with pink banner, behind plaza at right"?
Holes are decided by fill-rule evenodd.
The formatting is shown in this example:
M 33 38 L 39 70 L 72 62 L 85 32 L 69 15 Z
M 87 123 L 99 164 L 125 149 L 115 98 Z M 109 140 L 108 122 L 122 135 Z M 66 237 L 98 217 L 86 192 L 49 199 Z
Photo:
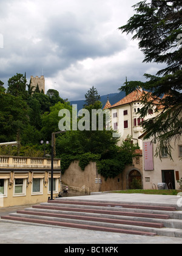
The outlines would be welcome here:
M 140 136 L 143 139 L 144 135 Z M 162 157 L 156 157 L 157 144 L 151 140 L 143 140 L 143 188 L 157 188 L 158 183 L 166 183 L 169 189 L 180 189 L 177 182 L 182 178 L 182 137 L 172 141 L 172 160 L 165 152 Z

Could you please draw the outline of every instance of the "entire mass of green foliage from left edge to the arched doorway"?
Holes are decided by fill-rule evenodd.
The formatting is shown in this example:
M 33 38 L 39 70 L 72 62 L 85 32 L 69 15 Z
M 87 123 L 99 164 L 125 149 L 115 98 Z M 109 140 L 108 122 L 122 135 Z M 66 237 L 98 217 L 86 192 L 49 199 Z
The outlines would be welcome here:
M 19 142 L 18 146 L 1 147 L 0 154 L 43 157 L 40 141 L 51 141 L 52 132 L 59 130 L 59 121 L 64 118 L 58 115 L 60 110 L 69 110 L 72 127 L 72 107 L 59 97 L 56 90 L 49 90 L 46 95 L 39 91 L 33 93 L 30 84 L 27 85 L 28 91 L 25 90 L 25 84 L 25 77 L 17 74 L 9 80 L 8 93 L 0 90 L 0 142 Z M 3 83 L 1 87 L 2 85 Z M 87 113 L 89 112 L 90 130 L 67 130 L 66 133 L 57 135 L 56 156 L 61 158 L 62 172 L 69 168 L 71 162 L 78 160 L 83 171 L 90 162 L 95 162 L 98 172 L 105 179 L 116 177 L 126 165 L 132 163 L 135 146 L 132 146 L 130 138 L 123 141 L 121 147 L 116 146 L 118 139 L 113 138 L 113 131 L 104 128 L 105 118 L 103 130 L 98 130 L 98 114 L 96 130 L 92 130 L 92 110 L 103 110 L 95 88 L 87 96 L 87 103 L 92 103 L 85 106 Z M 83 117 L 79 116 L 77 123 Z M 50 146 L 47 146 L 47 153 L 50 154 Z

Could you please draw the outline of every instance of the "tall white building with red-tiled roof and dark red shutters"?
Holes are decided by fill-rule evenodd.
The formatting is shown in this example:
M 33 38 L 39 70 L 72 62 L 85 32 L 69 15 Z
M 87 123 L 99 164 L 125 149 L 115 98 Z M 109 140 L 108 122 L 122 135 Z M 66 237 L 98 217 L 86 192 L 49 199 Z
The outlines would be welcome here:
M 148 92 L 138 88 L 121 99 L 121 101 L 116 102 L 116 104 L 111 105 L 108 99 L 104 107 L 104 109 L 108 108 L 110 110 L 112 129 L 118 131 L 119 144 L 129 135 L 132 137 L 133 143 L 138 143 L 138 146 L 142 149 L 142 140 L 138 139 L 143 134 L 141 122 L 156 115 L 154 111 L 156 105 L 153 105 L 153 109 L 149 110 L 147 116 L 144 119 L 140 118 L 138 111 L 143 107 L 142 98 L 144 93 Z M 160 102 L 160 99 L 156 103 L 158 102 Z

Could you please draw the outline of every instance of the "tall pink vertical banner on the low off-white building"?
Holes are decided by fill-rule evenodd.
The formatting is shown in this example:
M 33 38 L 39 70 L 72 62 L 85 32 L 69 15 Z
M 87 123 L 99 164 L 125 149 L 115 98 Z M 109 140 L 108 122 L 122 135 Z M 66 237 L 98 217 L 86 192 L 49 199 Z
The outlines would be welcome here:
M 144 142 L 144 169 L 145 171 L 153 171 L 153 143 Z

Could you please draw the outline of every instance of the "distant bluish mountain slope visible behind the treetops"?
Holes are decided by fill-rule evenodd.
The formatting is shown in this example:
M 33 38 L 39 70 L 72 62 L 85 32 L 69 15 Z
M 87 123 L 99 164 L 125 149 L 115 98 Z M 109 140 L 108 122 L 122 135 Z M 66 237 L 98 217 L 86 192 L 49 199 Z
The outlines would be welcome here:
M 107 97 L 109 97 L 109 102 L 111 105 L 115 104 L 116 102 L 120 101 L 126 96 L 126 93 L 124 91 L 121 91 L 120 93 L 110 93 L 107 95 L 101 96 L 101 102 L 103 104 L 103 108 L 106 105 Z M 78 111 L 81 110 L 86 102 L 83 100 L 79 101 L 70 101 L 70 105 L 76 104 Z

